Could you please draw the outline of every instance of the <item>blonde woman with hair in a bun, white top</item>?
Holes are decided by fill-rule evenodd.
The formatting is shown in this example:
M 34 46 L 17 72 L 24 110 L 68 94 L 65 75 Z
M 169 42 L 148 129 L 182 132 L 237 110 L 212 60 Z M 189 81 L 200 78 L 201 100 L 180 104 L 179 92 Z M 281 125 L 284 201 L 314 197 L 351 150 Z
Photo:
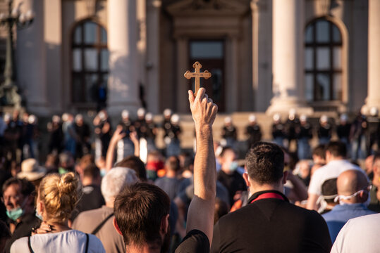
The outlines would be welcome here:
M 79 180 L 73 172 L 45 176 L 37 190 L 35 214 L 42 224 L 32 236 L 13 242 L 11 252 L 105 252 L 95 235 L 68 226 L 79 197 Z

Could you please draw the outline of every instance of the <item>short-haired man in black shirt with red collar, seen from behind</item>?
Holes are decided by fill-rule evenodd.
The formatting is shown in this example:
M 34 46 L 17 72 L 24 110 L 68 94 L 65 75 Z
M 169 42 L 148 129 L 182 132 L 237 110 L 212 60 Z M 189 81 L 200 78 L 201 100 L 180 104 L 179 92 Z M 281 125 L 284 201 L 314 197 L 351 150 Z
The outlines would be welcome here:
M 246 157 L 244 179 L 250 204 L 221 217 L 214 227 L 212 252 L 329 252 L 324 219 L 296 207 L 283 195 L 288 171 L 274 143 L 256 143 Z

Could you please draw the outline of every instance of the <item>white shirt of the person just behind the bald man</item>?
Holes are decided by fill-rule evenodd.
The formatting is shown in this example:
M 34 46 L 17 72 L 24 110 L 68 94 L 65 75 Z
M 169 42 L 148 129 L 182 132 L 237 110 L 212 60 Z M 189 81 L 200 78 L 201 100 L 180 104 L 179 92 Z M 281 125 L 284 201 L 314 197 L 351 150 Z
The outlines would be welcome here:
M 333 160 L 323 167 L 320 167 L 314 172 L 307 193 L 321 195 L 321 188 L 324 181 L 327 179 L 336 179 L 343 171 L 349 169 L 357 169 L 364 173 L 360 167 L 357 167 L 347 160 Z

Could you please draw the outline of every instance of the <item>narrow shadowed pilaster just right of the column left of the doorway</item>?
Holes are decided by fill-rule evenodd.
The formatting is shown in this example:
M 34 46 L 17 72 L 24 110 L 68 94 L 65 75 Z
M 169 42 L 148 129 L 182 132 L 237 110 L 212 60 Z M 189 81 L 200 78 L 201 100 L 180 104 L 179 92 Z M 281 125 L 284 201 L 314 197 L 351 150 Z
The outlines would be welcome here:
M 147 0 L 147 109 L 159 113 L 159 16 L 161 0 Z

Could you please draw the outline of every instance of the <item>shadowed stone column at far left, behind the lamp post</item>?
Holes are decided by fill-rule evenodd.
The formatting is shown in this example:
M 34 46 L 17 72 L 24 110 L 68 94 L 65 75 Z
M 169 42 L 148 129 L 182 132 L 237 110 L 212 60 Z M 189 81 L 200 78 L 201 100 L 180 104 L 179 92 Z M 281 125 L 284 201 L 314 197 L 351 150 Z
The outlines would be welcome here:
M 17 2 L 13 5 L 16 6 Z M 22 89 L 27 110 L 37 115 L 50 113 L 47 102 L 46 57 L 44 53 L 44 1 L 27 0 L 20 11 L 33 11 L 30 27 L 18 30 L 16 41 L 17 83 Z

